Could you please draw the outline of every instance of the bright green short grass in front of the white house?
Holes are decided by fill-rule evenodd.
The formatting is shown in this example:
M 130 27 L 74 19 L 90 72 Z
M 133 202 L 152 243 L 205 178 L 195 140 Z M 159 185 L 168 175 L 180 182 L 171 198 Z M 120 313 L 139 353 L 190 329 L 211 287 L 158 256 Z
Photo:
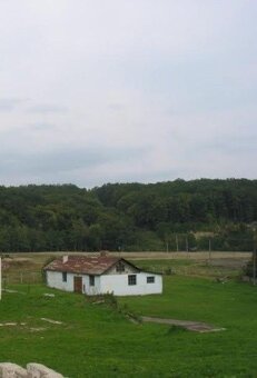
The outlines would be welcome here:
M 24 294 L 4 292 L 0 302 L 0 322 L 18 322 L 0 327 L 1 361 L 22 366 L 37 361 L 70 378 L 257 375 L 256 287 L 168 276 L 161 296 L 118 299 L 120 308 L 139 315 L 226 328 L 212 334 L 132 324 L 115 308 L 40 285 L 30 286 L 29 292 L 26 285 L 16 288 Z

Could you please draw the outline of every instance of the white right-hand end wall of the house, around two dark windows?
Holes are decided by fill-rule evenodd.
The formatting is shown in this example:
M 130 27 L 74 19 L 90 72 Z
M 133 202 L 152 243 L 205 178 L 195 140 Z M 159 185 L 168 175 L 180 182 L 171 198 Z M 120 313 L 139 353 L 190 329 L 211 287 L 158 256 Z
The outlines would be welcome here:
M 128 275 L 100 276 L 101 292 L 113 292 L 115 296 L 140 296 L 162 292 L 162 276 L 138 272 L 137 285 L 128 285 Z M 154 276 L 155 282 L 147 284 L 147 277 Z

